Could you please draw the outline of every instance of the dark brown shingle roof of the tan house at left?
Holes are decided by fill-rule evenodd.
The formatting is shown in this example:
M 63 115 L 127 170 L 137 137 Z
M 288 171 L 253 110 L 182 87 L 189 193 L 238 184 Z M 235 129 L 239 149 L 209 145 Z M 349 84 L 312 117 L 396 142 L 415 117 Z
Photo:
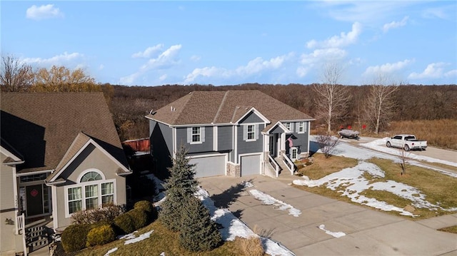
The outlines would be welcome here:
M 24 155 L 21 172 L 55 169 L 81 131 L 128 166 L 103 93 L 0 96 L 1 137 Z

